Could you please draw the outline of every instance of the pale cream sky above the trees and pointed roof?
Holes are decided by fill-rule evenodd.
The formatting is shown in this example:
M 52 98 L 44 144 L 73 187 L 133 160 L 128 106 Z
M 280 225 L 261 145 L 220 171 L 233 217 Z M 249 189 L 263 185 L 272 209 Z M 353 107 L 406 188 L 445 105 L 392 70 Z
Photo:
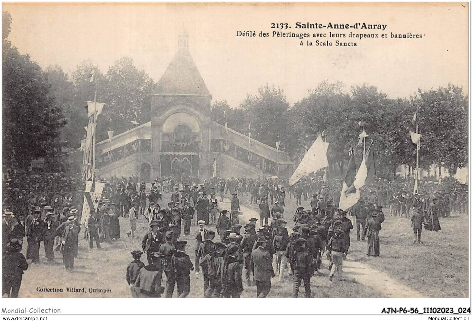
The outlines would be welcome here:
M 465 7 L 465 8 L 464 8 Z M 323 80 L 348 89 L 363 83 L 391 98 L 448 83 L 468 88 L 468 3 L 3 3 L 12 16 L 9 39 L 42 68 L 73 71 L 92 59 L 103 73 L 128 56 L 156 81 L 177 49 L 182 25 L 190 52 L 213 95 L 237 107 L 266 83 L 287 100 L 306 96 Z M 378 33 L 386 39 L 354 40 L 357 47 L 300 46 L 298 38 L 236 37 L 236 31 L 272 34 L 271 23 L 293 33 Z M 387 24 L 385 31 L 295 29 L 295 22 Z M 390 33 L 422 34 L 391 39 Z M 313 44 L 316 39 L 309 38 Z M 326 41 L 321 38 L 321 41 Z M 307 39 L 303 40 L 306 43 Z

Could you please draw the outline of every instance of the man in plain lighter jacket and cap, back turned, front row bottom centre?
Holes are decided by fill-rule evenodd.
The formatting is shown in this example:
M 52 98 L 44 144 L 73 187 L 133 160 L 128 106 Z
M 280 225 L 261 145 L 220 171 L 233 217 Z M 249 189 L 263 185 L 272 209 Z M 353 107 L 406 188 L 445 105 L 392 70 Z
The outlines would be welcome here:
M 254 265 L 254 281 L 256 281 L 257 296 L 264 298 L 269 295 L 272 287 L 270 279 L 275 277 L 274 269 L 272 268 L 272 257 L 266 250 L 268 245 L 267 238 L 260 237 L 257 240 L 258 247 L 251 253 L 251 261 Z

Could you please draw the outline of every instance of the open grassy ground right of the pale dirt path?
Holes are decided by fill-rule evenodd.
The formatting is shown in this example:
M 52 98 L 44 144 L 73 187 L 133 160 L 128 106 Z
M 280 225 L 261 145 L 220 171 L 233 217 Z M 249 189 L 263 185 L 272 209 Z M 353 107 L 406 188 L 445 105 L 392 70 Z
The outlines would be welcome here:
M 239 197 L 239 196 L 238 196 Z M 246 196 L 240 197 L 248 205 Z M 292 216 L 296 210 L 295 199 L 287 200 L 285 216 L 287 225 L 292 227 Z M 302 201 L 309 208 L 309 200 Z M 440 219 L 441 230 L 426 231 L 421 234 L 421 245 L 413 245 L 413 228 L 410 220 L 388 217 L 389 208 L 384 209 L 386 216 L 380 237 L 380 257 L 367 257 L 365 241 L 355 241 L 351 233 L 350 256 L 356 261 L 365 262 L 376 270 L 387 272 L 392 278 L 429 297 L 468 297 L 468 253 L 469 217 L 453 215 Z

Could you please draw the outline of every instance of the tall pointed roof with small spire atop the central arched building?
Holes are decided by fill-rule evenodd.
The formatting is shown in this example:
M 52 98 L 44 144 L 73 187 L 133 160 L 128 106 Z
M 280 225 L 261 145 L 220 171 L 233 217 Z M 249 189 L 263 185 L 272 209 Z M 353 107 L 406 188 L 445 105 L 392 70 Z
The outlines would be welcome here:
M 178 50 L 156 86 L 161 95 L 211 95 L 188 51 L 188 32 L 178 36 Z

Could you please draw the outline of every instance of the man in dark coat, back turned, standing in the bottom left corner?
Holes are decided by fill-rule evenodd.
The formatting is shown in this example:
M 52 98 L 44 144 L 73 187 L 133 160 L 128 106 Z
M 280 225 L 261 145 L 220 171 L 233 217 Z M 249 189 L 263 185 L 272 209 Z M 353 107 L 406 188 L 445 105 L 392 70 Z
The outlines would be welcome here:
M 2 296 L 17 298 L 20 291 L 23 271 L 28 269 L 28 263 L 19 250 L 20 241 L 12 238 L 8 241 L 6 252 L 2 256 Z

